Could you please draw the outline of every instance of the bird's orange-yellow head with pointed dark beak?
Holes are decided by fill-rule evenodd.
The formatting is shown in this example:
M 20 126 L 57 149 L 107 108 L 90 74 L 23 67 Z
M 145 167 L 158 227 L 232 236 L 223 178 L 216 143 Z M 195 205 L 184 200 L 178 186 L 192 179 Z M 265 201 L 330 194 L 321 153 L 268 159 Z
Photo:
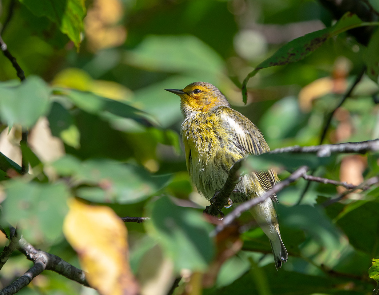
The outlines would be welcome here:
M 230 106 L 226 97 L 210 83 L 194 82 L 184 89 L 164 89 L 180 96 L 184 116 L 193 112 L 206 112 L 219 106 Z

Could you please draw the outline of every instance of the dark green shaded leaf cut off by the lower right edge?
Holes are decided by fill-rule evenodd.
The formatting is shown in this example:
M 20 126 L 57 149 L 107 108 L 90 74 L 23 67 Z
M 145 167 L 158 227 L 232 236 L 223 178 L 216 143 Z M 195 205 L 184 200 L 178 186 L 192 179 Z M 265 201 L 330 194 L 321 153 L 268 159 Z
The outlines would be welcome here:
M 379 255 L 379 203 L 357 201 L 348 204 L 336 220 L 354 248 L 371 257 Z

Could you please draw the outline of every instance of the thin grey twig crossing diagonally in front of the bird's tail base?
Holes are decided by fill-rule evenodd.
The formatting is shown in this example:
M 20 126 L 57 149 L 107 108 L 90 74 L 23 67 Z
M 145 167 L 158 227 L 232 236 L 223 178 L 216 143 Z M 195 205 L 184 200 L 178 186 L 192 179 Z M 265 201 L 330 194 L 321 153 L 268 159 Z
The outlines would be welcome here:
M 216 226 L 216 229 L 213 231 L 213 235 L 216 235 L 217 233 L 221 232 L 226 226 L 230 225 L 233 220 L 235 220 L 237 217 L 239 217 L 243 212 L 249 210 L 253 206 L 255 206 L 258 203 L 261 203 L 265 201 L 267 198 L 271 197 L 271 195 L 276 194 L 280 190 L 282 190 L 284 187 L 288 186 L 290 183 L 293 183 L 305 173 L 307 173 L 308 167 L 307 166 L 301 166 L 299 169 L 295 170 L 288 178 L 284 179 L 283 181 L 280 181 L 279 183 L 275 184 L 270 190 L 268 190 L 265 194 L 263 194 L 260 197 L 250 199 L 242 204 L 240 204 L 238 207 L 236 207 L 232 212 L 230 212 L 221 222 L 218 226 Z

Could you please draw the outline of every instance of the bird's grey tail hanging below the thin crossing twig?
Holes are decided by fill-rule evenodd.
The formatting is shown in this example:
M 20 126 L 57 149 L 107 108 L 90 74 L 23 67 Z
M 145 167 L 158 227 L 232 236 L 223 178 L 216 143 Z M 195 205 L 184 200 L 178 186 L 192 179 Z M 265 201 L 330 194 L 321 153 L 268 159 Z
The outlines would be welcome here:
M 287 261 L 288 253 L 280 237 L 279 224 L 273 201 L 268 198 L 266 201 L 254 206 L 250 212 L 269 238 L 274 254 L 275 267 L 279 269 Z

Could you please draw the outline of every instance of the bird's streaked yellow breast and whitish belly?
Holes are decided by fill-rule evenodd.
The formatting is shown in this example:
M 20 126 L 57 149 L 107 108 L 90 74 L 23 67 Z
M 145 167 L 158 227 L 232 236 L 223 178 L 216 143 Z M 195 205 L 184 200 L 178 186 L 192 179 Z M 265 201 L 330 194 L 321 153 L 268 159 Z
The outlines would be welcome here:
M 182 124 L 189 175 L 207 198 L 221 189 L 230 167 L 247 155 L 238 150 L 230 132 L 217 112 L 197 112 Z

